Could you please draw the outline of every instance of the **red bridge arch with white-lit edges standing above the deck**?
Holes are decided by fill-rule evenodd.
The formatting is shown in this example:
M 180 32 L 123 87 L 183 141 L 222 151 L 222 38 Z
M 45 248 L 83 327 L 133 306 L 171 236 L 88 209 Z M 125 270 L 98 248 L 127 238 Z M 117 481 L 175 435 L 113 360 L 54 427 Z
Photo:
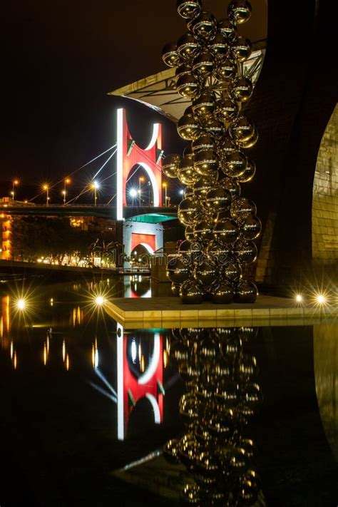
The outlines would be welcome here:
M 134 165 L 143 167 L 153 187 L 154 206 L 162 200 L 162 126 L 154 123 L 148 146 L 140 148 L 128 128 L 126 110 L 117 111 L 117 220 L 123 220 L 123 206 L 127 205 L 126 183 Z

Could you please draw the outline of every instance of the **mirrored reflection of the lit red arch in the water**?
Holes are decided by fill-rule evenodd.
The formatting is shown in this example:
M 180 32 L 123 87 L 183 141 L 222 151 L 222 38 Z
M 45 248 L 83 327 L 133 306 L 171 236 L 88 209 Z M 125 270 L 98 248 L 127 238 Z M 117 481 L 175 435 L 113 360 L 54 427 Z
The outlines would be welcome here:
M 127 335 L 121 324 L 117 324 L 117 367 L 118 367 L 118 439 L 124 440 L 128 420 L 133 407 L 141 398 L 148 399 L 153 409 L 156 424 L 163 422 L 163 338 L 154 337 L 153 357 L 148 368 L 136 379 L 130 372 L 127 359 Z

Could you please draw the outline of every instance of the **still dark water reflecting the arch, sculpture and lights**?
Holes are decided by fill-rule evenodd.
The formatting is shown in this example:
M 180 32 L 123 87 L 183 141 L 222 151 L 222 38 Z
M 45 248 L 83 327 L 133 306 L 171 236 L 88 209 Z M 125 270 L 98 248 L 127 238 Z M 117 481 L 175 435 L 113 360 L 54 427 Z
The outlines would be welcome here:
M 123 285 L 150 295 L 148 280 Z M 128 330 L 94 300 L 118 293 L 113 280 L 1 292 L 1 507 L 176 505 L 163 468 L 144 477 L 156 460 L 130 466 L 170 439 L 185 465 L 172 489 L 194 480 L 195 505 L 256 491 L 257 505 L 337 506 L 338 324 Z M 133 483 L 114 474 L 126 466 Z

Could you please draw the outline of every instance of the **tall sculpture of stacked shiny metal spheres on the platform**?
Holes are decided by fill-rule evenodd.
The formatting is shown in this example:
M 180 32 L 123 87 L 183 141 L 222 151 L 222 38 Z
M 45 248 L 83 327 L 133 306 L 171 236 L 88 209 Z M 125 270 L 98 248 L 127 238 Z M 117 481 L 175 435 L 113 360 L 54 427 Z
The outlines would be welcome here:
M 187 185 L 178 208 L 185 241 L 170 256 L 167 275 L 183 303 L 255 302 L 257 287 L 242 268 L 257 257 L 255 240 L 262 225 L 252 200 L 241 197 L 241 183 L 255 175 L 245 150 L 258 135 L 243 108 L 252 82 L 243 62 L 251 43 L 237 35 L 250 19 L 247 0 L 232 0 L 228 18 L 217 21 L 201 0 L 178 0 L 188 32 L 163 48 L 163 61 L 176 67 L 178 94 L 191 101 L 178 121 L 181 138 L 190 141 L 183 157 L 168 155 L 163 173 Z

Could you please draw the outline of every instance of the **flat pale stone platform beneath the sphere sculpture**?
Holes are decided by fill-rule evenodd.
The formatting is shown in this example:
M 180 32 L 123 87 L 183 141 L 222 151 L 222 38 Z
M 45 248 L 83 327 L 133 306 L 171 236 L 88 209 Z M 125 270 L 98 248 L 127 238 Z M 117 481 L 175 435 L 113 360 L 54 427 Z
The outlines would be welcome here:
M 307 325 L 338 316 L 338 307 L 259 296 L 254 304 L 182 304 L 178 297 L 113 298 L 106 312 L 130 329 Z

